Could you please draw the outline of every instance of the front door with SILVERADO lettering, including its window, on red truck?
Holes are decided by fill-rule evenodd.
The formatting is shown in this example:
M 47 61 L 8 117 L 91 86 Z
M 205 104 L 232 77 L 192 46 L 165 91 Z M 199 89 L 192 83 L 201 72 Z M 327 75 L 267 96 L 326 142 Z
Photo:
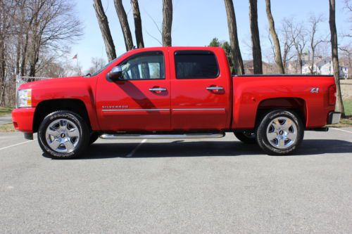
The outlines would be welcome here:
M 96 110 L 102 130 L 170 130 L 170 80 L 168 55 L 163 51 L 137 53 L 118 65 L 122 79 L 100 77 Z

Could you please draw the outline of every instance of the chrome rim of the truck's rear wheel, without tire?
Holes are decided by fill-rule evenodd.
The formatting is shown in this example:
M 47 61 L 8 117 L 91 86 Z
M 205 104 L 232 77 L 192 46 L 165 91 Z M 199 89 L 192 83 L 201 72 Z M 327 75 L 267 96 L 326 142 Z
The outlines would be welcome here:
M 268 125 L 266 136 L 275 148 L 289 148 L 296 142 L 297 125 L 288 117 L 277 117 Z

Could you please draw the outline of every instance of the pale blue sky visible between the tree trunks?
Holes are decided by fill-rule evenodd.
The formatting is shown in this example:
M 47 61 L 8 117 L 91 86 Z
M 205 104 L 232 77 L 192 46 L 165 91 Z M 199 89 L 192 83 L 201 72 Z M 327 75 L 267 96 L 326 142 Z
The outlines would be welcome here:
M 71 46 L 68 59 L 77 54 L 78 63 L 87 70 L 92 58 L 106 58 L 105 46 L 101 37 L 99 24 L 96 20 L 92 0 L 76 0 L 75 11 L 84 25 L 84 36 Z M 337 1 L 337 31 L 338 34 L 348 32 L 348 15 L 344 11 L 344 0 Z M 237 19 L 237 30 L 241 53 L 244 58 L 251 59 L 251 32 L 249 28 L 249 1 L 233 0 Z M 111 34 L 118 55 L 125 53 L 125 42 L 116 15 L 113 0 L 102 0 L 106 9 Z M 217 37 L 229 40 L 225 3 L 223 0 L 172 0 L 172 46 L 207 46 L 211 39 Z M 125 11 L 134 38 L 134 21 L 130 0 L 123 0 Z M 329 33 L 329 1 L 328 0 L 272 0 L 272 15 L 277 29 L 284 18 L 294 17 L 299 22 L 307 22 L 310 14 L 324 15 L 325 22 L 319 26 L 321 34 Z M 146 47 L 161 46 L 161 29 L 163 21 L 162 0 L 139 0 L 142 17 L 144 44 Z M 158 25 L 158 27 L 156 26 Z M 258 25 L 262 51 L 270 49 L 268 44 L 268 20 L 265 12 L 265 0 L 258 0 Z M 154 39 L 156 37 L 158 40 Z M 341 42 L 341 41 L 339 41 Z M 263 58 L 265 60 L 265 58 Z M 73 63 L 77 63 L 73 60 Z

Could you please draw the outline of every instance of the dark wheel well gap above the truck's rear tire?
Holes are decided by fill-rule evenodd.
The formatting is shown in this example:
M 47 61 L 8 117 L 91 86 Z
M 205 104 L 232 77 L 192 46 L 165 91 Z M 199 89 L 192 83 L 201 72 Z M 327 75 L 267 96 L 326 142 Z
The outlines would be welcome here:
M 301 118 L 303 126 L 306 125 L 306 101 L 302 98 L 270 98 L 263 100 L 258 105 L 256 114 L 256 126 L 263 116 L 275 109 L 285 109 L 294 111 Z

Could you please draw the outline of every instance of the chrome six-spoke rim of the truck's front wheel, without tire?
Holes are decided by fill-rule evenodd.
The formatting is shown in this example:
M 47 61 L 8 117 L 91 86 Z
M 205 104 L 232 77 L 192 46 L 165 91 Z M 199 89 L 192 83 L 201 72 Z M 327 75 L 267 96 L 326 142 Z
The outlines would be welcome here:
M 80 130 L 68 119 L 56 119 L 45 131 L 46 143 L 56 152 L 72 152 L 80 141 Z

